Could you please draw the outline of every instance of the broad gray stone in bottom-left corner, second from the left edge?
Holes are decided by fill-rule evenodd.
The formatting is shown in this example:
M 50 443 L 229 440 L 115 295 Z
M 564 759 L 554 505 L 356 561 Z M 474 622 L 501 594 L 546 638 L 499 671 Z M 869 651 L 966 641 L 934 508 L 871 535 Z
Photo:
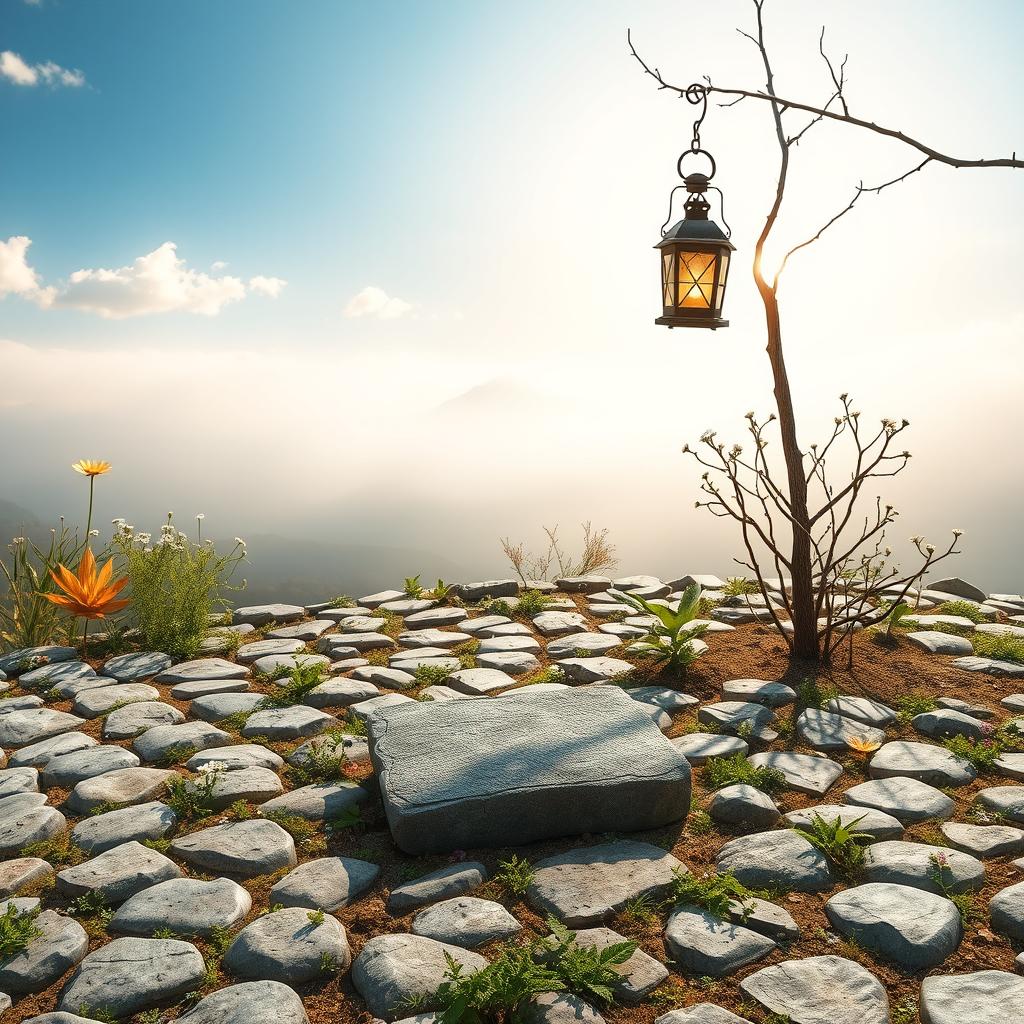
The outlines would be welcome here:
M 79 964 L 58 1009 L 102 1008 L 117 1019 L 173 1002 L 198 989 L 206 968 L 200 951 L 178 939 L 114 939 Z

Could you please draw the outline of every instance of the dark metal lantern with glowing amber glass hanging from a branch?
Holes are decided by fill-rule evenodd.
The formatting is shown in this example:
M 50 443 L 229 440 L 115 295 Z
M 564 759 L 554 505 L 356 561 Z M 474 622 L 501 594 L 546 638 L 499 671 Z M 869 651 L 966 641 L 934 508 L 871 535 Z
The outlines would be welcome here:
M 690 98 L 691 93 L 695 98 Z M 725 286 L 729 275 L 729 254 L 735 246 L 729 236 L 714 220 L 708 219 L 711 204 L 705 198 L 713 187 L 714 158 L 700 148 L 700 122 L 707 113 L 708 95 L 702 86 L 687 90 L 690 102 L 703 102 L 705 109 L 693 125 L 693 141 L 677 165 L 682 185 L 676 185 L 669 198 L 669 217 L 662 225 L 662 241 L 654 247 L 662 256 L 662 315 L 654 321 L 665 327 L 703 327 L 712 331 L 728 327 L 722 318 Z M 711 173 L 683 175 L 683 160 L 687 156 L 702 155 L 711 162 Z M 685 215 L 668 231 L 672 219 L 672 200 L 678 189 L 687 191 Z M 721 189 L 715 188 L 721 197 Z M 724 216 L 723 216 L 724 221 Z M 728 225 L 726 225 L 728 227 Z M 730 232 L 731 233 L 731 232 Z

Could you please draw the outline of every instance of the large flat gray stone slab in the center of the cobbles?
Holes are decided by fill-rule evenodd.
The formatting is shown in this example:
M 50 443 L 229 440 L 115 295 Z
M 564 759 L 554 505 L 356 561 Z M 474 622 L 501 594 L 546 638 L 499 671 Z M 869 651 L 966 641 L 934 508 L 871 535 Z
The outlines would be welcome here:
M 620 689 L 385 708 L 370 752 L 408 853 L 637 831 L 686 816 L 690 769 Z

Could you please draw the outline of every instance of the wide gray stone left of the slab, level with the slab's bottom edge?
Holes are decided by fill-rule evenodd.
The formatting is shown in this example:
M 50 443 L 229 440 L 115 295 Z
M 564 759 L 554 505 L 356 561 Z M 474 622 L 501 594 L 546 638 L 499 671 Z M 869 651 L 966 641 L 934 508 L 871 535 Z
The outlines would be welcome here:
M 265 806 L 265 805 L 264 805 Z M 182 836 L 171 853 L 193 867 L 253 879 L 297 863 L 295 841 L 273 821 L 229 821 Z

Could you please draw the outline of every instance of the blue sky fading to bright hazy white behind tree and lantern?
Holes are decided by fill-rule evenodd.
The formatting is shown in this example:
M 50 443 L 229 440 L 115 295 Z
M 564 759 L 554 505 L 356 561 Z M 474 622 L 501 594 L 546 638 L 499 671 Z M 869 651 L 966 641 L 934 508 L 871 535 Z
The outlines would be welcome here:
M 827 95 L 825 22 L 850 52 L 857 113 L 969 156 L 1024 151 L 1019 4 L 767 11 L 780 90 Z M 725 558 L 732 540 L 682 511 L 695 479 L 678 449 L 770 402 L 749 261 L 771 125 L 753 103 L 705 125 L 738 247 L 733 326 L 655 328 L 650 247 L 692 112 L 640 75 L 625 31 L 682 84 L 757 87 L 735 32 L 748 3 L 0 0 L 0 53 L 29 69 L 0 61 L 0 243 L 31 239 L 36 274 L 26 291 L 29 271 L 8 266 L 22 291 L 11 278 L 3 297 L 0 262 L 0 375 L 17 382 L 0 397 L 17 439 L 0 469 L 22 505 L 63 510 L 76 493 L 61 467 L 89 456 L 116 462 L 113 511 L 140 519 L 195 506 L 228 532 L 343 519 L 355 537 L 386 519 L 429 548 L 455 536 L 482 562 L 497 534 L 594 518 L 629 568 L 659 570 L 646 560 L 681 530 Z M 15 81 L 47 62 L 84 84 Z M 914 162 L 816 129 L 780 245 L 857 180 Z M 987 517 L 1024 497 L 998 455 L 1024 427 L 1022 217 L 1021 172 L 930 168 L 795 259 L 782 291 L 805 436 L 842 390 L 865 414 L 906 416 L 905 531 L 973 530 L 985 571 L 1001 561 Z M 140 284 L 135 261 L 165 243 L 183 262 Z M 165 274 L 193 290 L 155 297 Z M 133 315 L 100 314 L 112 288 Z M 196 288 L 212 307 L 196 311 Z M 965 423 L 992 446 L 966 476 L 957 463 L 953 485 Z M 629 488 L 605 482 L 631 473 L 647 481 L 644 526 Z M 473 528 L 454 530 L 460 516 Z

